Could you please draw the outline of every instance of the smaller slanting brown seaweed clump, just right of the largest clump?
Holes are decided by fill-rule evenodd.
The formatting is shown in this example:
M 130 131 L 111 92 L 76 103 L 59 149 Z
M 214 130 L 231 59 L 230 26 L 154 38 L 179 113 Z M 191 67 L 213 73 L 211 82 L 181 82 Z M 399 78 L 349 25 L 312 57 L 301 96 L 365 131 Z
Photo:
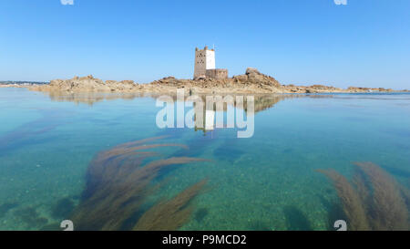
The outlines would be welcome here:
M 202 180 L 180 192 L 168 201 L 160 201 L 144 213 L 133 228 L 134 231 L 177 230 L 190 220 L 192 200 L 202 191 L 208 180 Z

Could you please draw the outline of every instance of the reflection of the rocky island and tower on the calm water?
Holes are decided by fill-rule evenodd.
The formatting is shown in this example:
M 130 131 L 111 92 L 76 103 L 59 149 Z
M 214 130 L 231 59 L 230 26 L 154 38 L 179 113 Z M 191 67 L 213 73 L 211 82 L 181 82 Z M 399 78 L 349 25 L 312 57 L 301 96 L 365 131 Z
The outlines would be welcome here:
M 167 99 L 171 99 L 171 104 L 177 107 L 180 101 L 177 92 L 170 92 L 169 95 L 163 95 L 158 93 L 62 93 L 62 92 L 49 92 L 47 93 L 49 98 L 53 101 L 68 101 L 77 104 L 87 104 L 89 106 L 94 105 L 97 102 L 105 100 L 115 100 L 115 99 L 138 99 L 138 98 L 151 98 L 160 99 L 164 96 Z M 188 96 L 186 93 L 184 102 L 193 101 L 193 125 L 188 127 L 193 128 L 195 131 L 203 131 L 204 134 L 207 131 L 215 130 L 216 128 L 234 128 L 236 113 L 236 125 L 246 128 L 244 131 L 238 131 L 242 134 L 250 133 L 248 131 L 248 119 L 244 119 L 245 116 L 250 116 L 247 118 L 253 118 L 253 114 L 261 112 L 265 109 L 271 109 L 275 104 L 284 99 L 296 99 L 305 98 L 308 95 L 287 95 L 287 94 L 254 94 L 243 96 L 240 94 L 233 95 L 195 95 Z M 248 113 L 250 109 L 250 102 L 248 98 L 251 97 L 251 112 Z M 330 95 L 323 96 L 309 96 L 311 98 L 332 98 Z M 211 99 L 211 100 L 210 100 Z M 239 100 L 241 99 L 241 100 Z M 212 101 L 213 103 L 209 104 Z M 199 104 L 200 103 L 200 104 Z M 184 103 L 182 103 L 184 105 Z M 177 108 L 178 109 L 178 108 Z M 233 111 L 233 113 L 231 112 Z M 177 113 L 178 115 L 178 113 Z M 221 115 L 221 116 L 220 116 Z M 238 115 L 240 115 L 238 117 Z M 166 115 L 168 116 L 168 114 Z M 173 115 L 172 115 L 173 116 Z M 243 119 L 240 119 L 243 118 Z M 224 125 L 224 120 L 227 120 L 227 125 Z M 171 121 L 171 123 L 173 120 Z M 158 123 L 157 123 L 158 125 Z M 169 123 L 168 123 L 169 125 Z M 177 125 L 178 126 L 178 125 Z M 173 128 L 173 127 L 169 127 Z M 238 133 L 238 134 L 239 134 Z M 251 135 L 250 135 L 251 136 Z M 246 137 L 246 136 L 245 136 Z

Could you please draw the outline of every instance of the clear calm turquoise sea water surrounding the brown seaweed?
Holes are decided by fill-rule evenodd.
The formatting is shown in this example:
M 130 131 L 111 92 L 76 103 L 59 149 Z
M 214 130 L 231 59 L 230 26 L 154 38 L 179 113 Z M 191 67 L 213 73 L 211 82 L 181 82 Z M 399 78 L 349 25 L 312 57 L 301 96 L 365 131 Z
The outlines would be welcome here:
M 353 161 L 372 161 L 410 188 L 410 94 L 257 97 L 249 139 L 235 129 L 162 130 L 159 109 L 151 97 L 0 88 L 0 230 L 58 230 L 99 151 L 163 135 L 158 142 L 190 149 L 155 149 L 160 157 L 209 160 L 161 172 L 156 181 L 166 183 L 149 196 L 209 179 L 181 230 L 332 229 L 338 197 L 315 170 L 349 176 Z

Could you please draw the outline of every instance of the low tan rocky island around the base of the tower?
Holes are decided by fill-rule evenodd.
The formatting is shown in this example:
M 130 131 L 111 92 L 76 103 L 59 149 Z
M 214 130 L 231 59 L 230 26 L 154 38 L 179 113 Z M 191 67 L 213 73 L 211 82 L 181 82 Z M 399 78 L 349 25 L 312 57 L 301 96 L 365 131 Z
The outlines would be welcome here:
M 3 86 L 5 87 L 5 86 Z M 15 87 L 15 85 L 13 85 Z M 196 78 L 179 79 L 161 78 L 148 84 L 138 84 L 132 80 L 103 81 L 92 76 L 71 79 L 55 79 L 49 84 L 20 86 L 42 92 L 80 93 L 80 92 L 116 92 L 116 93 L 169 93 L 184 88 L 190 93 L 355 93 L 355 92 L 394 92 L 385 88 L 334 88 L 323 85 L 294 86 L 282 85 L 271 76 L 249 67 L 245 74 L 232 78 Z M 407 91 L 407 90 L 402 90 Z

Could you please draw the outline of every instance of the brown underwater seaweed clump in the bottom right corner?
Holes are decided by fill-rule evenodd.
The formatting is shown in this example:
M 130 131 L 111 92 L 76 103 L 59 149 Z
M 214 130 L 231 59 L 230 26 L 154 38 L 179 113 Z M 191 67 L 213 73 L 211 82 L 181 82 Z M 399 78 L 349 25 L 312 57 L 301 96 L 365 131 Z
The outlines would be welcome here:
M 349 230 L 409 230 L 410 193 L 372 162 L 354 162 L 353 181 L 333 170 L 328 177 L 342 202 Z

